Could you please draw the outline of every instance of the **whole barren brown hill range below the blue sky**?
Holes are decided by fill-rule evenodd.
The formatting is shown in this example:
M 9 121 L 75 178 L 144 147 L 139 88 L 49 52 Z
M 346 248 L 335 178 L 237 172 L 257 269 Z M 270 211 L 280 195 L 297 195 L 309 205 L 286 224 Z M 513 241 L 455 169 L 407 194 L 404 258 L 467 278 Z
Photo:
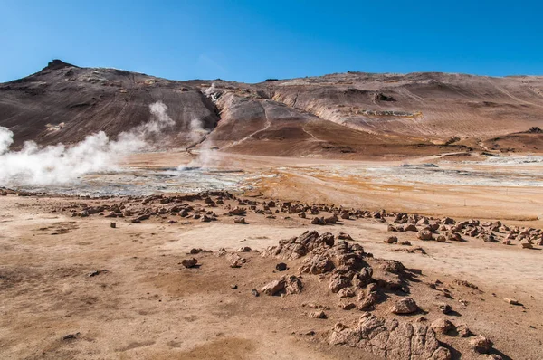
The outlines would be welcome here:
M 194 145 L 253 155 L 413 156 L 472 150 L 540 152 L 543 77 L 371 74 L 264 81 L 169 81 L 55 60 L 0 84 L 0 126 L 15 146 L 73 143 L 100 130 L 116 137 L 163 101 L 176 126 L 167 147 Z

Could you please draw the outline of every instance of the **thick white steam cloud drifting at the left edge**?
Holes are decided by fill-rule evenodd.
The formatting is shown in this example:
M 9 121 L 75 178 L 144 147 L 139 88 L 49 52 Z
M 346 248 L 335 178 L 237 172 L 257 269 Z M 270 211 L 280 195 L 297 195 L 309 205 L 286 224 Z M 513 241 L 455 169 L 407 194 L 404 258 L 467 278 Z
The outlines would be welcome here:
M 33 141 L 26 141 L 21 151 L 9 151 L 14 133 L 0 127 L 0 185 L 66 184 L 81 175 L 115 166 L 120 156 L 151 147 L 150 138 L 175 124 L 161 101 L 151 104 L 149 109 L 149 122 L 119 134 L 117 140 L 110 140 L 100 131 L 70 147 L 62 144 L 39 147 Z

